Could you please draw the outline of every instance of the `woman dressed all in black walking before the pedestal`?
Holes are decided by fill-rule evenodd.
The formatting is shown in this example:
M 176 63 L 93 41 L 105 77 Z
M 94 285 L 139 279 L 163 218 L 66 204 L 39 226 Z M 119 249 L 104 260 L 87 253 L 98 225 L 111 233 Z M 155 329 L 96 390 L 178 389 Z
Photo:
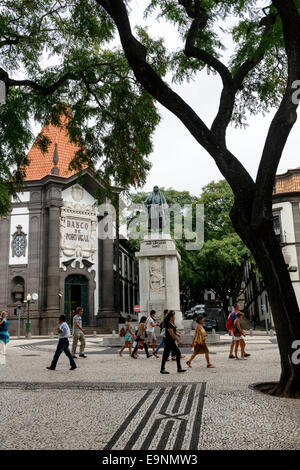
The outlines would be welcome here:
M 172 354 L 175 354 L 176 356 L 177 372 L 186 372 L 185 369 L 182 369 L 181 363 L 180 363 L 181 353 L 178 348 L 178 345 L 182 346 L 182 343 L 180 341 L 179 336 L 175 334 L 176 327 L 175 327 L 174 322 L 175 322 L 175 312 L 174 310 L 171 310 L 166 316 L 166 319 L 164 322 L 164 326 L 166 330 L 166 339 L 165 339 L 165 348 L 164 348 L 164 353 L 163 353 L 161 368 L 160 368 L 161 374 L 169 374 L 169 372 L 165 370 L 165 365 L 166 365 L 167 359 L 171 351 L 173 351 Z

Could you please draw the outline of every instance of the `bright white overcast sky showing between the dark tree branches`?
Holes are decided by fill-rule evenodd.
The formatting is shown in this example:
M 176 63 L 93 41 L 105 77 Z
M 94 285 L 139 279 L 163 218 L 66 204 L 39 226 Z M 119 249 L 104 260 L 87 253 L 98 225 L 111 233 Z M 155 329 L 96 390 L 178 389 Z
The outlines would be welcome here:
M 135 24 L 147 24 L 153 37 L 163 37 L 168 46 L 181 47 L 178 34 L 172 25 L 155 16 L 143 19 L 145 0 L 131 0 L 130 21 Z M 227 44 L 225 57 L 230 55 L 230 42 Z M 172 84 L 172 88 L 198 113 L 206 125 L 211 124 L 219 103 L 221 80 L 219 76 L 198 74 L 195 81 L 182 85 Z M 212 180 L 223 178 L 212 157 L 196 142 L 184 125 L 168 110 L 159 105 L 161 122 L 153 136 L 153 153 L 150 156 L 152 169 L 149 172 L 143 191 L 152 191 L 154 185 L 187 190 L 194 195 L 201 193 L 201 188 Z M 252 178 L 255 179 L 268 127 L 274 116 L 274 110 L 266 116 L 249 116 L 248 128 L 240 129 L 230 125 L 227 131 L 229 150 L 243 163 Z M 278 174 L 300 166 L 299 151 L 300 120 L 297 121 L 284 149 Z

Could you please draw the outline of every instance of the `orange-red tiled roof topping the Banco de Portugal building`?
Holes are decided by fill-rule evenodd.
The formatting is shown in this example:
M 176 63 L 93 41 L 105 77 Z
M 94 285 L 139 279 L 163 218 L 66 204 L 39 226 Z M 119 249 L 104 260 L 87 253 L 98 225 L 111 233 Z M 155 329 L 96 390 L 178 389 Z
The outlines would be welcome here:
M 51 175 L 55 144 L 57 144 L 59 176 L 68 178 L 74 175 L 76 172 L 69 171 L 68 167 L 79 147 L 69 141 L 66 129 L 50 124 L 44 126 L 40 134 L 46 135 L 51 140 L 51 144 L 46 153 L 43 153 L 35 143 L 33 144 L 28 152 L 30 163 L 25 169 L 25 180 L 40 180 L 46 175 Z

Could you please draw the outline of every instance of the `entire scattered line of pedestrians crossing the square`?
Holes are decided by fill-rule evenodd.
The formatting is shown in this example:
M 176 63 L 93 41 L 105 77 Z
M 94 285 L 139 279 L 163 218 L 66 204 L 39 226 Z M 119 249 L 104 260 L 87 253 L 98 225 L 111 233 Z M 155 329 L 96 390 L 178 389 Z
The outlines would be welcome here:
M 78 341 L 80 342 L 80 351 L 79 357 L 86 358 L 87 356 L 84 353 L 85 350 L 85 330 L 82 327 L 82 315 L 83 309 L 82 307 L 78 307 L 76 309 L 76 315 L 73 317 L 73 343 L 72 343 L 72 351 L 69 348 L 69 337 L 71 336 L 69 325 L 66 322 L 65 315 L 61 315 L 59 317 L 59 326 L 57 328 L 58 332 L 58 344 L 52 359 L 51 365 L 47 367 L 49 370 L 55 370 L 58 359 L 62 352 L 66 354 L 66 356 L 70 360 L 70 370 L 74 370 L 77 368 L 74 359 L 77 359 L 76 356 L 76 348 L 78 345 Z M 169 361 L 169 356 L 171 354 L 172 360 L 176 361 L 177 363 L 177 371 L 178 372 L 186 372 L 185 369 L 181 367 L 181 359 L 184 356 L 181 354 L 179 349 L 182 346 L 180 340 L 180 332 L 178 331 L 175 325 L 175 312 L 173 310 L 165 310 L 164 316 L 161 323 L 157 322 L 155 319 L 156 312 L 152 310 L 150 312 L 149 317 L 143 316 L 137 328 L 137 331 L 133 331 L 131 322 L 132 317 L 130 315 L 127 316 L 125 326 L 124 326 L 124 345 L 119 351 L 119 355 L 122 356 L 124 349 L 129 349 L 129 354 L 133 359 L 137 359 L 138 351 L 145 350 L 147 358 L 155 356 L 159 358 L 158 351 L 162 346 L 164 346 L 164 352 L 162 355 L 162 362 L 160 372 L 161 374 L 169 374 L 166 371 L 166 362 Z M 245 339 L 246 336 L 245 331 L 241 327 L 240 320 L 243 317 L 243 313 L 240 311 L 239 304 L 234 305 L 234 310 L 229 314 L 228 320 L 226 323 L 226 328 L 231 335 L 232 341 L 230 345 L 230 352 L 229 352 L 229 359 L 239 359 L 238 357 L 238 348 L 241 349 L 241 359 L 245 360 L 246 357 L 250 356 L 250 354 L 246 353 L 245 351 Z M 209 350 L 207 348 L 205 338 L 207 333 L 203 328 L 203 317 L 200 315 L 198 316 L 196 322 L 197 326 L 195 329 L 194 338 L 191 344 L 193 348 L 193 354 L 191 355 L 190 359 L 186 362 L 187 366 L 191 368 L 191 363 L 193 359 L 198 354 L 204 354 L 206 358 L 207 368 L 214 368 L 214 366 L 210 362 L 209 357 Z M 157 345 L 157 338 L 155 334 L 155 327 L 160 327 L 161 332 L 161 341 Z M 8 320 L 7 320 L 7 312 L 1 312 L 0 316 L 0 354 L 5 355 L 6 352 L 6 345 L 9 342 L 9 333 L 8 333 Z M 150 347 L 152 345 L 152 354 L 150 354 Z

